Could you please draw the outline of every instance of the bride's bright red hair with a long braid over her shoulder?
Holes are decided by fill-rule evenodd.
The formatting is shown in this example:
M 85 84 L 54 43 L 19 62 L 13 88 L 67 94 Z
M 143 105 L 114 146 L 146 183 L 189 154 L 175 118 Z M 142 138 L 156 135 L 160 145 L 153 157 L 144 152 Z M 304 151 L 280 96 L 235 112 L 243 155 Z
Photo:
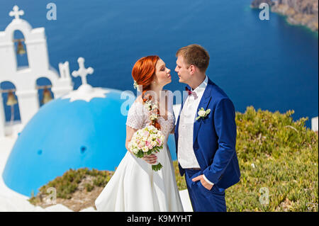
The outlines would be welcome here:
M 132 69 L 133 79 L 136 81 L 138 86 L 142 86 L 143 102 L 152 99 L 152 96 L 146 93 L 147 91 L 150 91 L 152 81 L 155 79 L 155 66 L 158 60 L 159 57 L 156 55 L 142 57 L 140 58 L 140 60 L 135 62 L 134 67 Z M 159 115 L 159 109 L 157 109 L 157 115 Z M 157 120 L 154 120 L 152 122 L 152 125 L 154 125 L 155 128 L 157 128 L 158 130 L 161 129 L 161 126 L 159 125 Z

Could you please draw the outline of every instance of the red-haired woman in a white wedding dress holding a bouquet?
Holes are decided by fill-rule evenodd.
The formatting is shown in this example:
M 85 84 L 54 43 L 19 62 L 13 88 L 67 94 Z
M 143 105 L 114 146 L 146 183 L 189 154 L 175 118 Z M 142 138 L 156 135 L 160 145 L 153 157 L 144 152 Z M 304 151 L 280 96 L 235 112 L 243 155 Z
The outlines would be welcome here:
M 95 200 L 98 211 L 183 211 L 181 198 L 167 146 L 169 133 L 174 131 L 173 95 L 163 86 L 172 81 L 170 69 L 158 56 L 142 57 L 135 63 L 132 76 L 142 95 L 136 98 L 128 111 L 125 147 L 134 132 L 146 125 L 155 125 L 162 131 L 164 147 L 156 155 L 139 159 L 128 149 L 106 187 Z M 166 101 L 167 100 L 167 101 Z M 145 102 L 157 104 L 157 120 L 150 120 L 151 112 Z M 152 164 L 162 164 L 159 171 Z

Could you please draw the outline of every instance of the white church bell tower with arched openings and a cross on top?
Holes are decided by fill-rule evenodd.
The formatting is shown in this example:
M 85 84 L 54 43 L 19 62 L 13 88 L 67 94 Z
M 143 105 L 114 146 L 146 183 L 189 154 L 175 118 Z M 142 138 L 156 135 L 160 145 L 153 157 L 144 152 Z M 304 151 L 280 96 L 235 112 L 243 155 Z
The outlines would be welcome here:
M 59 64 L 60 74 L 50 66 L 45 28 L 32 28 L 27 21 L 20 18 L 23 14 L 24 12 L 19 10 L 18 6 L 14 6 L 13 11 L 9 13 L 9 16 L 13 16 L 13 20 L 4 31 L 0 31 L 0 84 L 3 81 L 9 81 L 16 87 L 21 125 L 25 125 L 40 107 L 37 79 L 45 77 L 50 80 L 51 91 L 55 98 L 73 89 L 69 62 Z M 17 65 L 13 35 L 16 30 L 24 36 L 28 67 Z M 0 137 L 8 135 L 2 103 L 0 93 Z

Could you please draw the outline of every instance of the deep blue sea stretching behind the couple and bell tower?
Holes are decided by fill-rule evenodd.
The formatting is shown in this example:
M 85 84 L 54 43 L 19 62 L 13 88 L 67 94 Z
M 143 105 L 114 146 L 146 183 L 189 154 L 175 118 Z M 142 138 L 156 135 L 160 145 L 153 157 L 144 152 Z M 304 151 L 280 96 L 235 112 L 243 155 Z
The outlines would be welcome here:
M 228 94 L 236 111 L 254 106 L 281 113 L 293 109 L 294 120 L 317 116 L 318 34 L 291 26 L 276 13 L 261 21 L 260 10 L 250 9 L 250 2 L 1 0 L 0 30 L 11 22 L 9 11 L 17 4 L 33 28 L 45 27 L 52 67 L 69 61 L 72 72 L 78 69 L 77 58 L 84 57 L 86 67 L 94 68 L 89 84 L 131 91 L 131 69 L 145 55 L 159 55 L 172 69 L 172 83 L 165 89 L 184 89 L 174 72 L 175 52 L 197 43 L 211 55 L 208 77 Z M 57 6 L 57 20 L 47 20 L 49 3 Z M 77 89 L 79 77 L 73 81 Z

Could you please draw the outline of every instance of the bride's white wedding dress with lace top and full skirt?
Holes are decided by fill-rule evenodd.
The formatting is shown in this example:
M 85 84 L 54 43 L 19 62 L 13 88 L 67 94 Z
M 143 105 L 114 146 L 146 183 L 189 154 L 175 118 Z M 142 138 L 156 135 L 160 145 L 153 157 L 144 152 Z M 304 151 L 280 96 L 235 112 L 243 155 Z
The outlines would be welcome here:
M 157 153 L 162 169 L 153 171 L 152 165 L 126 152 L 106 187 L 95 200 L 98 211 L 184 211 L 175 180 L 172 157 L 167 146 L 175 117 L 172 95 L 169 95 L 168 117 L 158 119 L 165 136 L 164 148 Z M 141 129 L 150 123 L 142 103 L 135 101 L 128 111 L 126 125 Z

